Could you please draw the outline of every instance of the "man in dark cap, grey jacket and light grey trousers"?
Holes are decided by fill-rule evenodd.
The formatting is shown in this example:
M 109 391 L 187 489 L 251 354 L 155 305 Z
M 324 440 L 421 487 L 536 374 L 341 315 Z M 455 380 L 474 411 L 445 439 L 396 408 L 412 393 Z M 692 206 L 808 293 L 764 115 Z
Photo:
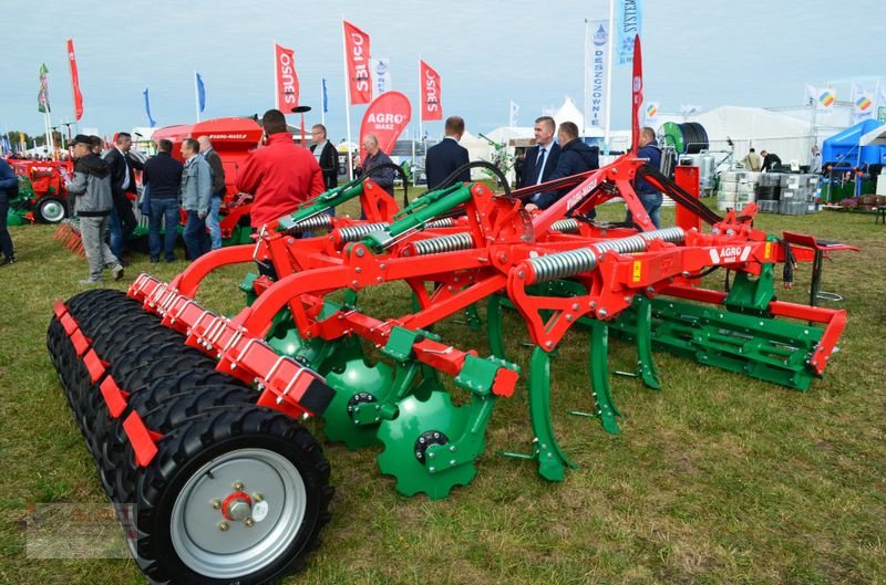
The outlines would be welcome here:
M 104 242 L 107 220 L 114 208 L 111 195 L 111 167 L 92 153 L 92 140 L 84 134 L 74 136 L 71 149 L 76 163 L 74 177 L 66 181 L 65 187 L 69 195 L 76 197 L 80 236 L 90 265 L 90 278 L 80 283 L 101 283 L 104 280 L 105 267 L 111 268 L 114 280 L 120 280 L 123 278 L 123 267 Z

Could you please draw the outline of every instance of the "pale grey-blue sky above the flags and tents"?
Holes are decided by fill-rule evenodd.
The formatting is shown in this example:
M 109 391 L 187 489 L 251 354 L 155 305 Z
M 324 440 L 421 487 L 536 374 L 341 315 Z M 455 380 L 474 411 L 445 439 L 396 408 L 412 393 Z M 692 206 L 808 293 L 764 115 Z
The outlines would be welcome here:
M 3 130 L 42 132 L 41 62 L 50 70 L 53 124 L 73 118 L 69 36 L 84 96 L 81 127 L 109 135 L 147 125 L 145 87 L 158 126 L 194 122 L 195 70 L 206 84 L 204 118 L 260 114 L 272 105 L 276 40 L 296 50 L 300 102 L 315 107 L 308 124 L 319 122 L 327 77 L 326 119 L 336 142 L 346 129 L 342 17 L 370 34 L 373 56 L 391 59 L 393 87 L 412 101 L 413 122 L 421 53 L 441 74 L 444 116 L 464 116 L 476 134 L 506 124 L 511 100 L 521 106 L 521 125 L 565 95 L 580 108 L 584 20 L 608 15 L 607 0 L 0 2 Z M 884 17 L 884 0 L 645 0 L 646 100 L 664 112 L 681 104 L 799 105 L 805 83 L 832 82 L 848 100 L 853 79 L 873 92 L 877 77 L 886 80 Z M 614 128 L 629 123 L 628 75 L 627 66 L 616 70 Z M 354 136 L 363 111 L 351 108 Z M 426 127 L 432 136 L 442 132 L 441 123 Z

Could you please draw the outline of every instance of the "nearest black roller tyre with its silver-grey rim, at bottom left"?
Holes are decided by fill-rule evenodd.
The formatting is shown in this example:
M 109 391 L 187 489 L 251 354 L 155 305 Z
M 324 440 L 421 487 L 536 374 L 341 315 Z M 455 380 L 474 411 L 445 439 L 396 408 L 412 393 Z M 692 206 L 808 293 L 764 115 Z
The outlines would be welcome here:
M 319 445 L 296 420 L 251 405 L 217 408 L 158 449 L 138 480 L 132 543 L 148 578 L 247 585 L 301 567 L 329 520 L 333 489 Z M 209 503 L 238 492 L 255 506 L 240 505 L 236 520 Z

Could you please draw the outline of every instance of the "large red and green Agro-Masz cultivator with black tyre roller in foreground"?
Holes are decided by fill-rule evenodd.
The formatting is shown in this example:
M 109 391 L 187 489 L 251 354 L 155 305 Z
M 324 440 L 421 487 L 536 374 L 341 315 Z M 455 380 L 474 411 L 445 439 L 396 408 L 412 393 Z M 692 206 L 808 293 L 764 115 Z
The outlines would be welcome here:
M 637 178 L 674 199 L 680 226 L 651 224 Z M 574 328 L 590 338 L 588 414 L 610 433 L 620 431 L 610 333 L 636 345 L 637 373 L 652 387 L 653 349 L 799 390 L 822 375 L 845 312 L 774 296 L 776 267 L 813 260 L 814 242 L 755 229 L 753 206 L 718 217 L 630 153 L 540 188 L 564 187 L 536 213 L 521 200 L 530 192 L 478 182 L 398 209 L 358 179 L 172 282 L 142 274 L 127 293 L 56 303 L 50 355 L 144 573 L 246 584 L 293 570 L 332 497 L 306 418 L 350 449 L 381 446 L 379 470 L 401 493 L 440 499 L 475 477 L 493 410 L 525 375 L 534 440 L 522 457 L 564 480 L 574 466 L 554 433 L 549 372 Z M 589 219 L 616 197 L 636 224 Z M 354 199 L 365 220 L 327 213 Z M 207 275 L 237 264 L 259 269 L 243 281 L 244 309 L 202 306 Z M 728 292 L 699 285 L 718 269 L 733 274 Z M 362 302 L 392 283 L 411 291 L 411 310 Z M 488 355 L 434 332 L 477 303 L 487 306 Z M 509 310 L 534 346 L 528 372 L 505 355 Z

